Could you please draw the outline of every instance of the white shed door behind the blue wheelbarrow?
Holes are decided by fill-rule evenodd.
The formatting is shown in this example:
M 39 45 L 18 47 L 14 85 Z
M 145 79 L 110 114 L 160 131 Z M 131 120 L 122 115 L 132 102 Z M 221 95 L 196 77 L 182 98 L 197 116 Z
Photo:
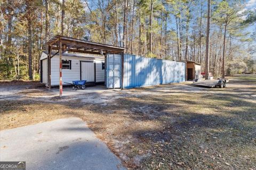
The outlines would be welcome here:
M 93 62 L 81 62 L 81 79 L 86 82 L 94 82 L 94 63 Z

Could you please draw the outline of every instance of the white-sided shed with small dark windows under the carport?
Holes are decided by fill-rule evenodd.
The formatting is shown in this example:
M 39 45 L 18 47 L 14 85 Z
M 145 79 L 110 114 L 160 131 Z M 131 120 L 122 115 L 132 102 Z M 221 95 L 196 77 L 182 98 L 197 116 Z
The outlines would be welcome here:
M 53 53 L 52 53 L 53 54 Z M 41 61 L 41 82 L 47 84 L 47 53 L 43 52 Z M 51 58 L 51 86 L 59 86 L 59 55 Z M 105 57 L 86 54 L 62 54 L 63 85 L 74 80 L 86 80 L 87 83 L 105 83 Z

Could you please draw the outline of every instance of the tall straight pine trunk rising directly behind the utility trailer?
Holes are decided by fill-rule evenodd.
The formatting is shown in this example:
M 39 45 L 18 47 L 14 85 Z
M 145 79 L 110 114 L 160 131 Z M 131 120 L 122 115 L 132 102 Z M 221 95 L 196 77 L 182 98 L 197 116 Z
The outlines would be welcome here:
M 207 3 L 207 27 L 206 27 L 206 48 L 205 48 L 205 80 L 209 77 L 209 34 L 210 34 L 211 0 Z

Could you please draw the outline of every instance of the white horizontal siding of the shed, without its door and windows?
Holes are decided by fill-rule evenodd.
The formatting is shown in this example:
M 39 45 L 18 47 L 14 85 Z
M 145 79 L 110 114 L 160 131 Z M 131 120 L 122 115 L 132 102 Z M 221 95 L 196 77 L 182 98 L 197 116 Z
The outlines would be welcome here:
M 96 64 L 96 82 L 103 82 L 105 79 L 105 71 L 101 69 L 101 62 L 104 60 L 94 60 L 94 58 L 86 57 L 71 57 L 71 56 L 62 56 L 62 60 L 71 60 L 71 70 L 62 69 L 62 82 L 72 83 L 73 80 L 80 80 L 80 61 L 94 61 Z M 99 64 L 100 62 L 100 64 Z M 97 66 L 100 69 L 97 69 Z M 51 58 L 51 85 L 58 86 L 60 79 L 59 71 L 59 56 L 54 56 Z M 43 60 L 43 83 L 47 82 L 47 60 Z

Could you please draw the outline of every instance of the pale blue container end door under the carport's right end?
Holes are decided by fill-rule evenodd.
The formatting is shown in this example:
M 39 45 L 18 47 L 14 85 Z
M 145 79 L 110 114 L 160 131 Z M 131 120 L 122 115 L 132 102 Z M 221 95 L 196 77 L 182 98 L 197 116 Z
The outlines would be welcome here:
M 107 55 L 107 88 L 121 87 L 121 55 Z

